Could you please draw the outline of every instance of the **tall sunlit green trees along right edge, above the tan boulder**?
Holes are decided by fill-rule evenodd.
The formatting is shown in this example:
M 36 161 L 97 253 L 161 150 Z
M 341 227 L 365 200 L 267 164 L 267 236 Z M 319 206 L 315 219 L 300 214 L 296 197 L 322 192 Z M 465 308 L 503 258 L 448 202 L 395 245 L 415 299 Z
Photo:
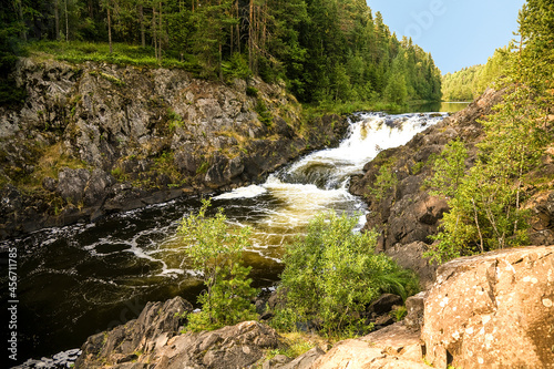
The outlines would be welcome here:
M 492 249 L 525 245 L 530 213 L 525 175 L 537 167 L 552 140 L 548 115 L 554 103 L 554 4 L 529 0 L 520 12 L 520 42 L 504 51 L 504 100 L 481 123 L 485 139 L 478 145 L 475 165 L 444 194 L 450 213 L 434 237 L 429 256 L 439 262 Z M 451 168 L 456 167 L 449 163 Z M 441 162 L 435 170 L 441 171 Z M 444 164 L 444 163 L 442 163 Z M 455 177 L 459 177 L 458 175 Z M 435 178 L 437 182 L 437 178 Z

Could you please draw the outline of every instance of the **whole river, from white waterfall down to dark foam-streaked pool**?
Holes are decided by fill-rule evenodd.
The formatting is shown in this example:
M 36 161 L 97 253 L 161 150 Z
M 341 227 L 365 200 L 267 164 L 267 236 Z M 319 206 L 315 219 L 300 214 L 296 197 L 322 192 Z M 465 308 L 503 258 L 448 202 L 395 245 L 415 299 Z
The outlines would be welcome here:
M 463 106 L 421 110 L 458 111 Z M 443 116 L 445 113 L 358 114 L 338 147 L 309 154 L 263 184 L 214 194 L 214 213 L 223 207 L 229 224 L 254 228 L 246 264 L 253 266 L 255 286 L 270 287 L 278 281 L 283 245 L 301 235 L 316 213 L 347 212 L 359 216 L 361 226 L 366 208 L 348 193 L 349 177 L 360 173 L 380 150 L 404 144 Z M 402 124 L 398 127 L 392 122 Z M 18 335 L 18 360 L 6 360 L 10 352 L 4 350 L 2 362 L 7 365 L 2 367 L 78 348 L 90 335 L 136 318 L 147 301 L 178 295 L 195 304 L 202 286 L 186 264 L 187 245 L 176 229 L 183 216 L 199 205 L 198 197 L 176 199 L 1 243 L 2 311 L 17 306 L 17 329 L 7 329 L 12 315 L 2 320 L 3 341 L 11 331 Z M 8 279 L 10 249 L 17 249 L 14 296 L 10 296 Z

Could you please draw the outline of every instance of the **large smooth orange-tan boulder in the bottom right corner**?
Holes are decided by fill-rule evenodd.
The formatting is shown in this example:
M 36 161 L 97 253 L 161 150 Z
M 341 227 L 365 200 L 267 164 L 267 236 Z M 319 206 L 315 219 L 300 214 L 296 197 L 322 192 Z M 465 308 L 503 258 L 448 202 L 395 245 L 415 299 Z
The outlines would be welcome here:
M 422 339 L 435 368 L 554 368 L 554 246 L 442 265 Z

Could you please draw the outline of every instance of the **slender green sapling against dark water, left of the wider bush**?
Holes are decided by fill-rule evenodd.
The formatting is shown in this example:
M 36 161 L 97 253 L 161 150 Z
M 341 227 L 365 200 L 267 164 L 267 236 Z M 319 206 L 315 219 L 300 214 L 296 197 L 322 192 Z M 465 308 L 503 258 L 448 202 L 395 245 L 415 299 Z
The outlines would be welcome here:
M 245 247 L 249 246 L 249 228 L 234 229 L 226 223 L 223 209 L 214 217 L 206 216 L 211 206 L 203 199 L 198 214 L 183 218 L 179 235 L 189 246 L 186 250 L 191 266 L 199 270 L 206 289 L 198 296 L 202 311 L 188 317 L 187 328 L 194 331 L 234 325 L 255 317 L 250 298 L 252 267 L 242 264 Z

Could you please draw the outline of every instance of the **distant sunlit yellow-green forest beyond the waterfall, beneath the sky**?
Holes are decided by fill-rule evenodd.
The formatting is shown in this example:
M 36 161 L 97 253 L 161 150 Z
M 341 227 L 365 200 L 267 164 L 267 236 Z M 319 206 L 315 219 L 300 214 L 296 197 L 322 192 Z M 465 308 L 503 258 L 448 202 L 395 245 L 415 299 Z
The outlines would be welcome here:
M 442 76 L 442 100 L 473 101 L 501 76 L 505 75 L 513 44 L 497 49 L 486 64 L 468 66 Z

